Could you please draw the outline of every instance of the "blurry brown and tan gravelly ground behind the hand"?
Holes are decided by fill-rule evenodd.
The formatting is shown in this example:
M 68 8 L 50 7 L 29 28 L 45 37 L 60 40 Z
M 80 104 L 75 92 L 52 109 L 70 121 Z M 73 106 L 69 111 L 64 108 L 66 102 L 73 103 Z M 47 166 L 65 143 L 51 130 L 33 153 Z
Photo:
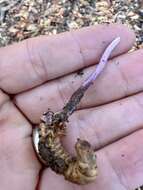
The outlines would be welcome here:
M 0 0 L 0 47 L 41 34 L 115 22 L 135 31 L 132 50 L 143 48 L 143 0 Z

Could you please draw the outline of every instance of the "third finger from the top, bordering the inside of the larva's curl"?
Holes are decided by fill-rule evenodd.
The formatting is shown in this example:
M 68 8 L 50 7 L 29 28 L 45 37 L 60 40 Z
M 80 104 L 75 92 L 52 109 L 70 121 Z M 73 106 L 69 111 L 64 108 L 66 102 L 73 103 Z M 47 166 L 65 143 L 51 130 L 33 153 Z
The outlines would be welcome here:
M 100 149 L 137 131 L 143 126 L 143 93 L 104 106 L 80 110 L 69 118 L 67 135 L 63 139 L 74 152 L 77 138 L 92 142 Z

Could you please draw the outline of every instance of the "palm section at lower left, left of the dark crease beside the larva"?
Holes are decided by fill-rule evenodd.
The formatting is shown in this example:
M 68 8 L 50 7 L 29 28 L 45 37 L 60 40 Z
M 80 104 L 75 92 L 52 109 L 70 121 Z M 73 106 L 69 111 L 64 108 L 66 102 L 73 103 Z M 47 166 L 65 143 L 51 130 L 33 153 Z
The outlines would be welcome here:
M 31 143 L 31 126 L 1 92 L 0 189 L 35 189 L 39 170 Z

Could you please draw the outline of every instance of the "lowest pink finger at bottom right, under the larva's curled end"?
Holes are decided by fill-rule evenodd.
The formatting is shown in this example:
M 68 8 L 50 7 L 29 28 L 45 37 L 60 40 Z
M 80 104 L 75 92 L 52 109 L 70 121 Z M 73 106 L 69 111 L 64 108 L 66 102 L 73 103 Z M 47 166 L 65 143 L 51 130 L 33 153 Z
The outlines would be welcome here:
M 43 173 L 40 189 L 135 189 L 143 184 L 142 144 L 143 130 L 140 130 L 97 151 L 98 176 L 92 184 L 74 185 L 48 169 Z

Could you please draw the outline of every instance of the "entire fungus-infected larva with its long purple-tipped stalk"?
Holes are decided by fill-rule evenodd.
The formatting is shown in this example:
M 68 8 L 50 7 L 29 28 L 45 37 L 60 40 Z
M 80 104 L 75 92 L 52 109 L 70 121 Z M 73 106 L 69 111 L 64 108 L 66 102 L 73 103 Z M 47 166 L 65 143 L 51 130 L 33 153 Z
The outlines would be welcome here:
M 109 44 L 96 70 L 72 94 L 63 109 L 56 113 L 51 110 L 45 112 L 33 133 L 34 147 L 41 162 L 73 183 L 87 184 L 96 179 L 96 154 L 89 142 L 77 139 L 76 157 L 72 157 L 64 149 L 61 138 L 66 135 L 66 123 L 69 116 L 76 110 L 86 90 L 102 72 L 111 52 L 119 42 L 120 37 L 117 37 Z

